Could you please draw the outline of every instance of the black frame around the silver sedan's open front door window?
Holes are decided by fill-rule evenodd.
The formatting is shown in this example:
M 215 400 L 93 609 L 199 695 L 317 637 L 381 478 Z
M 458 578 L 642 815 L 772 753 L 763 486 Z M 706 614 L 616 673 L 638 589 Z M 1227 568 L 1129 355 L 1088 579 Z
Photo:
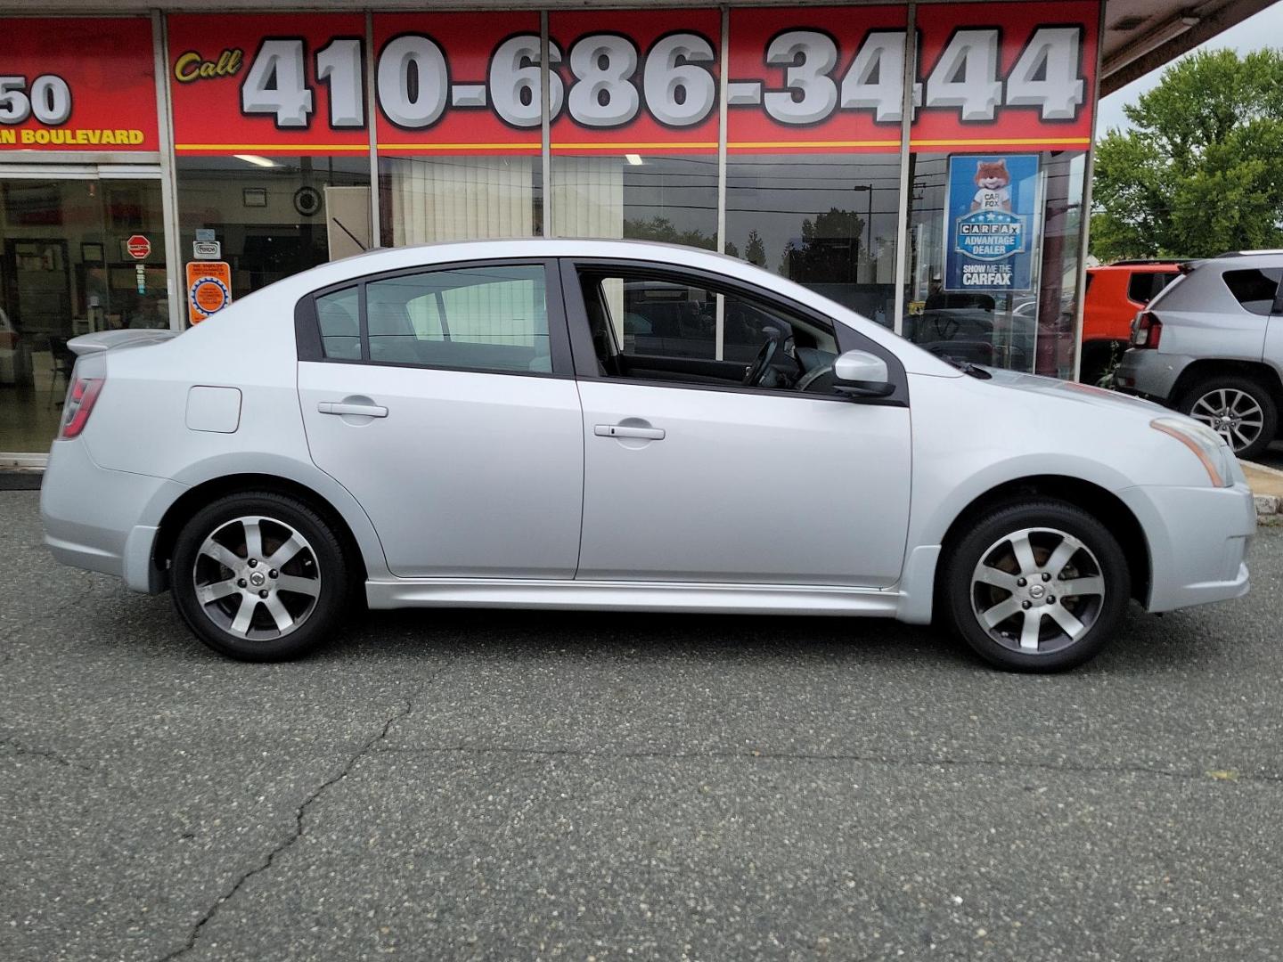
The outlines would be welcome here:
M 584 303 L 582 290 L 580 289 L 580 268 L 586 268 L 594 273 L 617 271 L 621 274 L 626 274 L 630 280 L 652 277 L 659 281 L 672 281 L 676 278 L 676 282 L 679 283 L 695 283 L 706 287 L 713 294 L 740 298 L 743 300 L 756 303 L 769 310 L 775 310 L 785 316 L 798 316 L 799 319 L 807 321 L 808 323 L 830 327 L 833 328 L 834 339 L 838 341 L 839 354 L 848 350 L 865 350 L 885 360 L 888 380 L 894 385 L 894 391 L 885 398 L 851 398 L 837 392 L 831 395 L 806 394 L 781 387 L 748 387 L 744 385 L 717 385 L 603 375 L 598 369 L 597 351 L 593 348 L 593 335 L 588 323 L 588 307 Z M 786 295 L 760 285 L 742 281 L 738 277 L 727 277 L 725 274 L 715 273 L 698 267 L 670 266 L 653 260 L 594 257 L 561 258 L 561 283 L 571 354 L 575 363 L 575 377 L 577 380 L 615 381 L 617 384 L 645 385 L 649 387 L 670 387 L 693 391 L 754 394 L 776 398 L 793 398 L 795 400 L 837 401 L 842 404 L 857 403 L 875 407 L 908 407 L 908 377 L 905 373 L 905 364 L 892 350 L 820 310 L 810 308 L 806 304 L 801 304 L 799 301 L 788 298 Z

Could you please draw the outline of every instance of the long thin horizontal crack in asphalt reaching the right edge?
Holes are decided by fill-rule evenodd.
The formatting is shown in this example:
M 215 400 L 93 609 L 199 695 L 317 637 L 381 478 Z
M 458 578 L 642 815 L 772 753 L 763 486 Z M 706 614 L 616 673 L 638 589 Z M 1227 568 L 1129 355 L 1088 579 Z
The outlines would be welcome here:
M 1164 779 L 1185 781 L 1251 781 L 1260 784 L 1283 784 L 1283 775 L 1278 773 L 1248 773 L 1234 771 L 1232 775 L 1212 775 L 1218 770 L 1202 772 L 1175 771 L 1171 768 L 1153 768 L 1143 764 L 1056 764 L 1053 762 L 1012 762 L 999 758 L 887 758 L 885 755 L 861 755 L 848 753 L 821 753 L 821 752 L 600 752 L 597 749 L 581 748 L 517 748 L 509 745 L 473 747 L 473 745 L 445 745 L 440 748 L 403 748 L 398 745 L 384 745 L 376 748 L 376 753 L 393 754 L 506 754 L 506 755 L 532 755 L 532 757 L 567 757 L 567 758 L 666 758 L 672 761 L 762 761 L 762 762 L 865 762 L 870 764 L 885 764 L 896 767 L 913 768 L 1014 768 L 1017 771 L 1047 771 L 1064 772 L 1070 775 L 1155 775 Z

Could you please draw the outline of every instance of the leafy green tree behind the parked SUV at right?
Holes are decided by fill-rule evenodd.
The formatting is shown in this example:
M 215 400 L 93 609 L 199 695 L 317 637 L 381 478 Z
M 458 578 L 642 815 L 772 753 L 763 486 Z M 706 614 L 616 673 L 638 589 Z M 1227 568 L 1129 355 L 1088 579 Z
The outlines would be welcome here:
M 1193 54 L 1124 112 L 1096 148 L 1093 254 L 1283 246 L 1283 50 Z

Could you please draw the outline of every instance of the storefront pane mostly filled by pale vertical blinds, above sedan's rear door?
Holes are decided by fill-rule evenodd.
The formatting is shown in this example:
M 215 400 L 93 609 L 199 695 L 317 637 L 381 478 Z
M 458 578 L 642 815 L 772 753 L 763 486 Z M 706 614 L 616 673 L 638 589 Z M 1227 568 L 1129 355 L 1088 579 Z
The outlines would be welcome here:
M 384 246 L 543 233 L 535 156 L 380 156 Z

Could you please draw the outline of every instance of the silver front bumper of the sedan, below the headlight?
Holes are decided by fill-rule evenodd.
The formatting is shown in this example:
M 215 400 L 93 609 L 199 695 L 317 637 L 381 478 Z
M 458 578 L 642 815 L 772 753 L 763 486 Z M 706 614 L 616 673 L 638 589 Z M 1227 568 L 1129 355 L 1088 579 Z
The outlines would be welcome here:
M 1247 594 L 1247 548 L 1256 504 L 1241 477 L 1232 487 L 1146 485 L 1119 491 L 1141 521 L 1150 549 L 1151 612 Z

